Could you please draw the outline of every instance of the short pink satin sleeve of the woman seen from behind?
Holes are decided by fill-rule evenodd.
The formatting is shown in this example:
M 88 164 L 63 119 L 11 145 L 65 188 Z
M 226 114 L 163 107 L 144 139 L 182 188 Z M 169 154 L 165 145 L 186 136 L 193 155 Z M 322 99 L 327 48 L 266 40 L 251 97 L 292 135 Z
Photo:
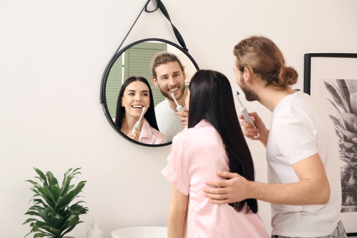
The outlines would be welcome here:
M 184 156 L 184 146 L 180 136 L 172 140 L 170 160 L 161 172 L 166 179 L 180 192 L 188 195 L 187 163 Z

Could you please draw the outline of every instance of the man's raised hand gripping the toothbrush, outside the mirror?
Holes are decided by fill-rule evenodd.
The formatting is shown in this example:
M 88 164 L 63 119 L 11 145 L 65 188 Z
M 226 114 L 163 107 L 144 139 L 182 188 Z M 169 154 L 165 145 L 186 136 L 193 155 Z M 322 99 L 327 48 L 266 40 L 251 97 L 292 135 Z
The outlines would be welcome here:
M 266 147 L 266 143 L 268 141 L 269 130 L 266 129 L 263 121 L 261 120 L 261 118 L 259 117 L 257 112 L 255 112 L 255 111 L 250 112 L 249 116 L 252 117 L 252 120 L 254 122 L 256 129 L 254 128 L 253 124 L 244 121 L 243 115 L 240 115 L 239 118 L 242 120 L 241 126 L 242 126 L 242 130 L 243 130 L 243 134 L 251 140 L 260 141 Z M 258 135 L 258 133 L 259 133 L 259 137 L 254 138 L 254 136 Z

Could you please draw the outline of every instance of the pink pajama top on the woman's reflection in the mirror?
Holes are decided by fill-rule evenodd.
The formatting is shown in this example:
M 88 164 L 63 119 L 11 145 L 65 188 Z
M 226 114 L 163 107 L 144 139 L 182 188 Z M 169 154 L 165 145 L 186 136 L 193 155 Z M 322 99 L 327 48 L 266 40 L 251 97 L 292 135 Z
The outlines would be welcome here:
M 163 144 L 167 142 L 167 139 L 163 133 L 151 127 L 144 117 L 141 133 L 139 136 L 139 142 L 150 145 Z

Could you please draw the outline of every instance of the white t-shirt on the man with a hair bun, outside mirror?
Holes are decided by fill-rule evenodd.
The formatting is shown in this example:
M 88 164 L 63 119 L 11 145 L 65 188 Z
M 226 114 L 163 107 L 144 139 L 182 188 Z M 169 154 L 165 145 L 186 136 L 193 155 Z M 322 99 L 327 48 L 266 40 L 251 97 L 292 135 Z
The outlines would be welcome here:
M 326 132 L 333 130 L 333 126 L 330 122 L 331 127 L 327 128 L 323 116 L 327 114 L 313 107 L 311 97 L 302 92 L 283 98 L 272 113 L 266 146 L 268 182 L 300 181 L 291 165 L 319 152 L 331 188 L 326 205 L 271 204 L 272 235 L 325 236 L 333 232 L 340 220 L 338 144 L 327 136 Z

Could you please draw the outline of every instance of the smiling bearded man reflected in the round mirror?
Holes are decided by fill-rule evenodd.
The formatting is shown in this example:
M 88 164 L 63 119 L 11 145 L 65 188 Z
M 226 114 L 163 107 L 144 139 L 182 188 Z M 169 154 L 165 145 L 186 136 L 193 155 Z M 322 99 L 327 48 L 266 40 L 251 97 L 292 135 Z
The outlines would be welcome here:
M 187 126 L 188 112 L 185 105 L 187 90 L 185 89 L 184 66 L 175 54 L 162 52 L 153 58 L 151 69 L 151 80 L 166 98 L 155 106 L 157 126 L 168 141 L 172 141 L 177 132 Z M 172 93 L 184 111 L 177 111 L 176 103 L 171 96 Z

